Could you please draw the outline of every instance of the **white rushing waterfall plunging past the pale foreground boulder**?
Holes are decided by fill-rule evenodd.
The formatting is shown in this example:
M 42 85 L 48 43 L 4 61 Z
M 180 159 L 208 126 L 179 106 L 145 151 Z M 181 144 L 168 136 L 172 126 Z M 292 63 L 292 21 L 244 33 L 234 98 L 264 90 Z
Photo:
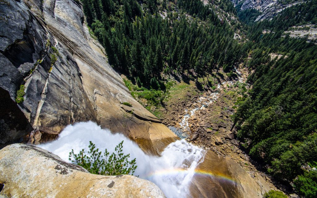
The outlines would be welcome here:
M 136 158 L 138 167 L 134 175 L 158 185 L 168 198 L 188 195 L 188 185 L 197 164 L 204 160 L 204 151 L 184 140 L 168 145 L 161 157 L 148 156 L 123 134 L 113 134 L 89 121 L 69 125 L 59 134 L 58 139 L 39 146 L 70 162 L 69 152 L 74 149 L 74 153 L 79 153 L 84 148 L 87 153 L 89 141 L 92 141 L 99 151 L 104 152 L 107 148 L 108 152 L 112 153 L 122 140 L 123 152 L 130 153 L 129 161 Z

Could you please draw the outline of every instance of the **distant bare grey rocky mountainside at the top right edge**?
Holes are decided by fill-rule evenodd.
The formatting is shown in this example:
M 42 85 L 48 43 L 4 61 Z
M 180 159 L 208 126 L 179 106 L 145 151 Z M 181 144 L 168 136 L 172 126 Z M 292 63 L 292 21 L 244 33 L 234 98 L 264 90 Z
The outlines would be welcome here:
M 291 0 L 288 3 L 278 0 L 231 0 L 235 6 L 241 5 L 241 10 L 245 9 L 257 9 L 262 12 L 260 16 L 256 18 L 256 21 L 262 21 L 264 19 L 271 19 L 281 12 L 283 9 L 303 2 L 302 0 Z

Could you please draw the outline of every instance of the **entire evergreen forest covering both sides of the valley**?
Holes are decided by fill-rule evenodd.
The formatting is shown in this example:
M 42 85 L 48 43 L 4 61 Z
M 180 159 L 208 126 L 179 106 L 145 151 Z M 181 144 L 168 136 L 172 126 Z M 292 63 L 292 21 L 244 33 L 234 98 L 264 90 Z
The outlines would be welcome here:
M 233 116 L 237 135 L 270 174 L 294 182 L 301 195 L 316 196 L 317 45 L 282 34 L 293 25 L 315 25 L 317 0 L 262 22 L 253 22 L 255 10 L 236 15 L 229 0 L 82 4 L 110 64 L 139 87 L 165 90 L 162 74 L 191 74 L 197 80 L 216 78 L 219 69 L 234 78 L 238 65 L 254 71 L 248 79 L 253 89 L 238 101 Z M 234 36 L 238 32 L 240 40 Z

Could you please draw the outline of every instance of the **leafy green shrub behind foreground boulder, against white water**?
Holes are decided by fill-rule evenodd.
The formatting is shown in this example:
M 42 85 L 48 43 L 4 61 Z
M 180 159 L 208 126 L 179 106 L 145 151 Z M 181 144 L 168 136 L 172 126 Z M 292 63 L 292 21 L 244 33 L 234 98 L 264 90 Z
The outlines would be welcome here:
M 88 154 L 85 154 L 84 149 L 82 149 L 78 154 L 74 154 L 72 149 L 69 152 L 69 160 L 73 164 L 77 164 L 92 174 L 97 175 L 133 175 L 135 169 L 137 168 L 136 159 L 134 158 L 131 161 L 128 161 L 130 154 L 124 155 L 122 152 L 123 141 L 115 147 L 115 152 L 109 156 L 107 149 L 104 154 L 101 155 L 99 149 L 96 149 L 94 143 L 89 141 L 89 151 Z M 72 160 L 74 158 L 74 160 Z

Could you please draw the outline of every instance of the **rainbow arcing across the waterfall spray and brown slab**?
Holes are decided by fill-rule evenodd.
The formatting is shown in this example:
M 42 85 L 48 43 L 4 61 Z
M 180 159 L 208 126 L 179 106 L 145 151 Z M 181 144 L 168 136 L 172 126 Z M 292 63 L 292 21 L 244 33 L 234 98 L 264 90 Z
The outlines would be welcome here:
M 155 172 L 151 172 L 150 174 L 146 175 L 146 178 L 151 178 L 153 176 L 176 176 L 178 174 L 181 174 L 181 173 L 190 173 L 189 170 L 186 170 L 186 169 L 165 169 L 165 170 L 158 170 L 158 171 L 155 171 Z M 233 183 L 234 185 L 236 185 L 236 181 L 234 179 L 232 179 L 231 177 L 228 177 L 224 174 L 215 174 L 211 171 L 205 171 L 205 170 L 195 170 L 194 171 L 194 175 L 200 175 L 200 176 L 210 176 L 210 177 L 213 177 L 215 179 L 221 179 L 223 181 L 226 181 L 226 182 L 230 182 L 230 183 Z

